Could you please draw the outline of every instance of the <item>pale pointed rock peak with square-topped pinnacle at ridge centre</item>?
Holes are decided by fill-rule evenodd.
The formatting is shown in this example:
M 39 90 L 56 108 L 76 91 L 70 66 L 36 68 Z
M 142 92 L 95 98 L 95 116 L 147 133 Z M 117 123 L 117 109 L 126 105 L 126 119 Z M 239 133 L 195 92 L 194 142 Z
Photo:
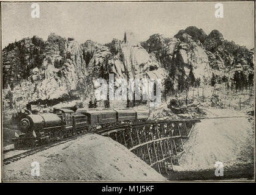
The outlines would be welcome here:
M 161 78 L 166 75 L 154 55 L 149 54 L 132 32 L 125 32 L 124 40 L 112 41 L 116 48 L 108 59 L 110 73 L 121 78 Z

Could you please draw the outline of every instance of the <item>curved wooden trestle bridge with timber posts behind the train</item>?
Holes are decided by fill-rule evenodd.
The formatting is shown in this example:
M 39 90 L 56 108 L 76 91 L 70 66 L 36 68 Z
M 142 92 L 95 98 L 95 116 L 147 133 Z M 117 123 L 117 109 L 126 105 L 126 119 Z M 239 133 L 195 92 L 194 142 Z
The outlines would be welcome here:
M 114 130 L 100 132 L 108 136 L 144 160 L 161 174 L 168 174 L 173 165 L 179 165 L 183 154 L 183 141 L 189 138 L 199 119 L 172 119 L 135 122 Z

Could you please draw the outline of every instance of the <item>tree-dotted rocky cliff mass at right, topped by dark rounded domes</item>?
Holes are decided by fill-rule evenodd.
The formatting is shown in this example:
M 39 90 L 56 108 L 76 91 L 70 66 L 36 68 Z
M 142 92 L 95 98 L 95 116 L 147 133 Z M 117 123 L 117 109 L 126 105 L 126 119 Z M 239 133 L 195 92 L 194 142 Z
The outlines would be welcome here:
M 206 35 L 202 29 L 190 26 L 173 38 L 151 35 L 141 45 L 167 70 L 167 91 L 182 90 L 186 88 L 184 83 L 208 85 L 213 76 L 218 82 L 244 80 L 246 87 L 253 85 L 253 49 L 225 40 L 218 30 Z M 240 74 L 238 80 L 236 73 Z

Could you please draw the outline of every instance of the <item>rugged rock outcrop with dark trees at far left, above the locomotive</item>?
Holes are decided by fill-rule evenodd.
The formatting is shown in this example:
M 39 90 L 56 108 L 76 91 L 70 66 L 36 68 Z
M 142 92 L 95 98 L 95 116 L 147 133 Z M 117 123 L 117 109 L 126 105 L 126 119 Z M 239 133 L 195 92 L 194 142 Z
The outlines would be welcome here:
M 42 48 L 35 40 L 40 41 Z M 16 107 L 78 98 L 82 91 L 86 94 L 92 89 L 83 48 L 74 40 L 55 34 L 50 34 L 45 42 L 35 37 L 25 38 L 15 43 L 10 52 L 4 49 L 4 59 L 4 93 L 12 91 L 11 103 Z M 23 63 L 21 59 L 25 59 Z

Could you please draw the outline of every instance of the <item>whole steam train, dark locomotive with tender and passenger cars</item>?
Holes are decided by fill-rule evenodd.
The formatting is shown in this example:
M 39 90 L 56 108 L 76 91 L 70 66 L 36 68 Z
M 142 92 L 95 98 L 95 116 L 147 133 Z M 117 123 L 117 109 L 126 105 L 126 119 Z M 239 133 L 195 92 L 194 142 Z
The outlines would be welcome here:
M 13 143 L 15 149 L 31 148 L 86 131 L 145 121 L 148 117 L 148 110 L 111 108 L 79 108 L 76 112 L 62 108 L 54 109 L 53 113 L 28 114 L 20 120 L 22 134 Z

